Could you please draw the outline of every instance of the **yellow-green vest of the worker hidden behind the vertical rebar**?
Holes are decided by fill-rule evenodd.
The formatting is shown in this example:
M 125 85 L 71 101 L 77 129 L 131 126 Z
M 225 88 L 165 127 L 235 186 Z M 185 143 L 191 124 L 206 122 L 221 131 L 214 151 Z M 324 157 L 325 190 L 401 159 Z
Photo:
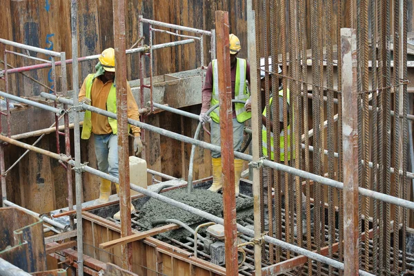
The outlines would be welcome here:
M 283 97 L 283 89 L 279 90 L 279 97 Z M 288 98 L 288 105 L 290 105 L 290 100 L 289 100 L 289 89 L 287 89 L 287 98 Z M 270 98 L 270 103 L 269 105 L 272 105 L 272 101 L 273 101 L 273 97 Z M 279 101 L 277 101 L 277 105 L 279 104 Z M 293 112 L 292 112 L 293 114 Z M 264 109 L 263 112 L 263 116 L 266 117 L 266 107 Z M 279 117 L 279 114 L 277 114 L 277 117 Z M 278 118 L 279 120 L 279 118 Z M 279 144 L 280 144 L 280 161 L 284 161 L 284 134 L 285 131 L 282 130 L 280 132 L 280 139 L 279 139 Z M 287 127 L 287 135 L 288 135 L 288 160 L 290 160 L 290 124 Z M 274 149 L 273 149 L 273 132 L 270 132 L 270 159 L 271 160 L 275 160 L 274 158 Z M 268 156 L 268 151 L 267 151 L 267 129 L 266 129 L 266 125 L 263 125 L 262 127 L 262 151 L 263 151 L 263 156 Z M 293 155 L 295 155 L 295 152 L 293 152 Z

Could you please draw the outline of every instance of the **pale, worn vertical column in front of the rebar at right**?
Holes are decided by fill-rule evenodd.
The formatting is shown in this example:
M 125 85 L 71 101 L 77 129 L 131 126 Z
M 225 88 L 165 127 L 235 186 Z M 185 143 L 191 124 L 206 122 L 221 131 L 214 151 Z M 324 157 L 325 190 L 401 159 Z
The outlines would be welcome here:
M 355 29 L 341 29 L 342 139 L 344 151 L 344 275 L 358 275 L 358 118 Z

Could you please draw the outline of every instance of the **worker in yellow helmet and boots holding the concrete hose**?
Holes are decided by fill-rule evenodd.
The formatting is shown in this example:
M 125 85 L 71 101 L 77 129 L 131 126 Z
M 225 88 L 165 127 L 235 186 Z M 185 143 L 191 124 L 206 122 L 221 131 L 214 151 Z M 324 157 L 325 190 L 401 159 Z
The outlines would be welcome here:
M 231 70 L 231 91 L 233 99 L 246 101 L 250 94 L 248 92 L 246 81 L 250 82 L 250 65 L 246 59 L 237 58 L 237 54 L 242 49 L 240 41 L 234 34 L 230 34 L 230 70 Z M 211 143 L 220 146 L 220 114 L 219 108 L 210 113 L 210 118 L 206 112 L 213 105 L 219 103 L 219 80 L 217 70 L 217 60 L 210 62 L 207 68 L 206 80 L 202 91 L 202 105 L 199 120 L 202 123 L 210 122 L 211 126 Z M 243 142 L 244 122 L 250 119 L 250 112 L 246 112 L 244 104 L 236 103 L 233 105 L 233 148 L 239 151 Z M 221 180 L 221 154 L 212 152 L 213 164 L 213 184 L 210 191 L 218 192 L 223 187 Z M 243 160 L 235 159 L 235 192 L 239 195 L 239 180 L 242 175 Z

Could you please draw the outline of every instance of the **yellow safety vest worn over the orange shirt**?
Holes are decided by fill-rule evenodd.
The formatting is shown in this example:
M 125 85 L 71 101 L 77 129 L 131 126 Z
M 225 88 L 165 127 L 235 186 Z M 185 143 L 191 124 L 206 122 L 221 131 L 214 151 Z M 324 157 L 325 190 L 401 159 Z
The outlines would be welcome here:
M 86 98 L 90 99 L 90 90 L 92 89 L 93 84 L 93 76 L 94 74 L 88 74 L 86 76 Z M 110 91 L 108 94 L 108 98 L 106 99 L 106 110 L 108 112 L 117 113 L 117 89 L 115 85 L 112 83 L 110 87 Z M 90 138 L 90 133 L 92 132 L 92 121 L 91 121 L 91 113 L 90 111 L 86 110 L 85 118 L 83 118 L 83 127 L 82 127 L 82 135 L 81 138 L 88 140 Z M 112 129 L 112 134 L 117 134 L 117 120 L 108 118 L 108 123 L 110 128 Z

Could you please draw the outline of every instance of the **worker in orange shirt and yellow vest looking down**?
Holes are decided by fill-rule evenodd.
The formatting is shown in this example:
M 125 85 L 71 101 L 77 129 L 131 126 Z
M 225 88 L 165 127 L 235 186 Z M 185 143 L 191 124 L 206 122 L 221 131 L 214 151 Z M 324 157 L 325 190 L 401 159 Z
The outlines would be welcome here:
M 99 56 L 99 63 L 95 66 L 96 73 L 88 74 L 81 91 L 79 92 L 79 101 L 108 110 L 108 112 L 117 113 L 117 92 L 115 89 L 115 50 L 108 48 Z M 137 103 L 132 96 L 131 87 L 127 82 L 128 98 L 128 118 L 139 120 L 139 111 Z M 129 125 L 128 125 L 129 127 Z M 139 127 L 130 126 L 134 134 L 135 155 L 139 155 L 143 145 L 141 142 L 141 130 Z M 97 156 L 98 169 L 110 176 L 119 177 L 118 171 L 118 137 L 117 137 L 117 120 L 86 111 L 83 119 L 83 128 L 81 138 L 88 140 L 93 133 L 95 141 L 95 154 Z M 119 184 L 115 184 L 119 195 Z M 101 178 L 99 189 L 99 199 L 95 204 L 102 204 L 109 201 L 111 193 L 111 182 Z M 134 211 L 131 204 L 131 211 Z M 114 219 L 120 220 L 120 213 L 114 215 Z

